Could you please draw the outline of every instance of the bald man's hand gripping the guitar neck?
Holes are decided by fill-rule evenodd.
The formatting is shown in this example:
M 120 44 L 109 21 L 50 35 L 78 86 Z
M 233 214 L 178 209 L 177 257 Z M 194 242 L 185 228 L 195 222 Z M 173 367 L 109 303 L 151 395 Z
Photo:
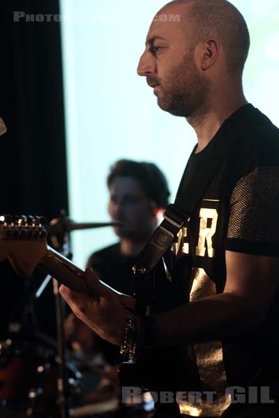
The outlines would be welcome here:
M 121 346 L 128 312 L 119 297 L 100 284 L 90 268 L 84 273 L 89 295 L 70 291 L 61 285 L 59 292 L 70 305 L 73 313 L 103 339 Z

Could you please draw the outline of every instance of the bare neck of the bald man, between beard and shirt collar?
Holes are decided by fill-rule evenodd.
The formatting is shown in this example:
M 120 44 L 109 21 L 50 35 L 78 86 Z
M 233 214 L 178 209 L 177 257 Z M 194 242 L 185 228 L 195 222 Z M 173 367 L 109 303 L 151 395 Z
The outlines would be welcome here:
M 239 88 L 226 86 L 226 88 L 219 88 L 219 91 L 216 88 L 214 92 L 215 94 L 211 94 L 211 102 L 204 114 L 187 118 L 188 123 L 197 134 L 196 153 L 202 151 L 209 144 L 229 116 L 248 103 L 242 86 Z

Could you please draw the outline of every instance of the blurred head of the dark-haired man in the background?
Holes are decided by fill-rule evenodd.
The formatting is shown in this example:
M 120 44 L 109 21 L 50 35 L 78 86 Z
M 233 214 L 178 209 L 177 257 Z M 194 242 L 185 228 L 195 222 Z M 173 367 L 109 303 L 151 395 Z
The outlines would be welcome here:
M 114 231 L 120 238 L 144 240 L 156 226 L 156 214 L 168 204 L 169 189 L 162 171 L 149 162 L 117 161 L 107 177 Z

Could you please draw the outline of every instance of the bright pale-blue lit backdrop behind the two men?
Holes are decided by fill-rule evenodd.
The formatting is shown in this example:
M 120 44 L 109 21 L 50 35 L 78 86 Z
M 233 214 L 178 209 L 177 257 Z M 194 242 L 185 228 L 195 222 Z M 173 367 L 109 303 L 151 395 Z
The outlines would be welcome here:
M 109 219 L 105 179 L 123 157 L 156 162 L 175 196 L 195 132 L 160 110 L 136 74 L 149 23 L 166 2 L 61 0 L 70 217 L 77 222 Z M 232 3 L 250 29 L 246 98 L 279 125 L 279 2 Z M 72 234 L 81 267 L 92 251 L 116 242 L 110 228 Z

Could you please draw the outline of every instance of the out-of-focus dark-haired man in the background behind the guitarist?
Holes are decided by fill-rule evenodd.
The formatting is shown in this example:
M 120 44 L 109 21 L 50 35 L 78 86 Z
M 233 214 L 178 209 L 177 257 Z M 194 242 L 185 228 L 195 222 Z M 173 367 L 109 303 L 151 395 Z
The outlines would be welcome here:
M 158 215 L 169 199 L 167 180 L 151 162 L 119 160 L 107 176 L 110 193 L 109 212 L 119 242 L 89 257 L 87 267 L 116 291 L 133 295 L 133 265 L 157 225 Z M 66 321 L 66 339 L 84 356 L 103 353 L 105 362 L 118 366 L 123 359 L 119 347 L 101 339 L 73 314 Z

